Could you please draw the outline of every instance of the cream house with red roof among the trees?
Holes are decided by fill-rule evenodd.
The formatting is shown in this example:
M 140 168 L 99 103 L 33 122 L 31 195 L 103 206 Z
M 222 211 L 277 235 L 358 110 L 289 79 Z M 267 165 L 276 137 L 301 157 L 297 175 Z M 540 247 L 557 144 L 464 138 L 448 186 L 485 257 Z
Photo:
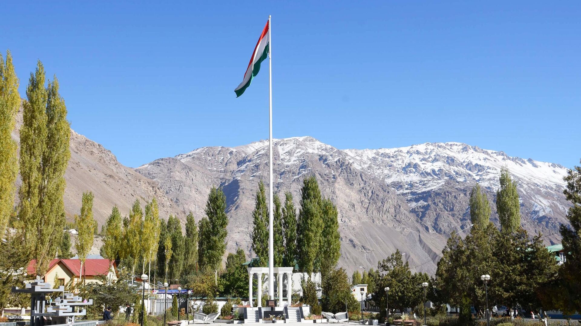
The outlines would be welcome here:
M 26 267 L 28 275 L 34 275 L 34 265 L 36 260 L 31 260 Z M 114 260 L 103 258 L 87 258 L 83 264 L 83 280 L 87 282 L 101 282 L 102 276 L 109 280 L 117 279 L 117 264 Z M 44 281 L 53 283 L 55 277 L 59 279 L 60 285 L 69 284 L 73 280 L 74 284 L 80 281 L 81 260 L 79 259 L 53 259 L 48 266 L 44 276 Z M 53 284 L 54 285 L 54 284 Z

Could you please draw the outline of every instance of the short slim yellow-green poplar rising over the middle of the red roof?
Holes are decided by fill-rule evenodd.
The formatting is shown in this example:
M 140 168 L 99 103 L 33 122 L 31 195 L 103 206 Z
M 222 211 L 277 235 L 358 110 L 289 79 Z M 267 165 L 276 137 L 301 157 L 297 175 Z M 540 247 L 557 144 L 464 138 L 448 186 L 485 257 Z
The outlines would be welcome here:
M 95 225 L 95 219 L 93 218 L 93 198 L 94 196 L 91 191 L 83 193 L 81 215 L 79 215 L 75 221 L 78 227 L 78 236 L 77 241 L 75 242 L 75 247 L 77 248 L 78 259 L 81 260 L 81 276 L 79 277 L 79 280 L 82 280 L 85 259 L 87 259 L 91 247 L 93 247 L 93 229 Z

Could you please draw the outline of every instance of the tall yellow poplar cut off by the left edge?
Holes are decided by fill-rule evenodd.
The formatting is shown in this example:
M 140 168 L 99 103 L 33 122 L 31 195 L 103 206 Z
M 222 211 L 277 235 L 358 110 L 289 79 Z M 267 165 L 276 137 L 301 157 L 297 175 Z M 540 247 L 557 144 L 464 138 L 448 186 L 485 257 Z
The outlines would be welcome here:
M 10 51 L 6 52 L 6 61 L 0 53 L 0 235 L 8 224 L 16 193 L 17 144 L 11 134 L 20 108 L 18 86 Z

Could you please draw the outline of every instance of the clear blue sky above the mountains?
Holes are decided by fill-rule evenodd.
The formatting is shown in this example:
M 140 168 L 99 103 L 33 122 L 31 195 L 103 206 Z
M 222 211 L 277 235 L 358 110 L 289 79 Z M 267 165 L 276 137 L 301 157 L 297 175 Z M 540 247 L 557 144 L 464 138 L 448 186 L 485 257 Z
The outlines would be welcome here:
M 579 163 L 579 1 L 12 2 L 0 49 L 22 97 L 41 59 L 72 128 L 139 166 L 268 138 L 268 70 L 234 94 L 268 15 L 274 137 Z

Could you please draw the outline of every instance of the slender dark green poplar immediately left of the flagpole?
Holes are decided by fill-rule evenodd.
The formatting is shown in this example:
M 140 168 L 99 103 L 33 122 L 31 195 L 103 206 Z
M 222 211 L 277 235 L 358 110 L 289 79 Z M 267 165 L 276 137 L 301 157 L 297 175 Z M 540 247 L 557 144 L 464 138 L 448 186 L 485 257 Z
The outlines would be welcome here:
M 264 193 L 264 183 L 258 183 L 256 204 L 252 212 L 252 250 L 260 259 L 260 266 L 268 266 L 268 204 Z

